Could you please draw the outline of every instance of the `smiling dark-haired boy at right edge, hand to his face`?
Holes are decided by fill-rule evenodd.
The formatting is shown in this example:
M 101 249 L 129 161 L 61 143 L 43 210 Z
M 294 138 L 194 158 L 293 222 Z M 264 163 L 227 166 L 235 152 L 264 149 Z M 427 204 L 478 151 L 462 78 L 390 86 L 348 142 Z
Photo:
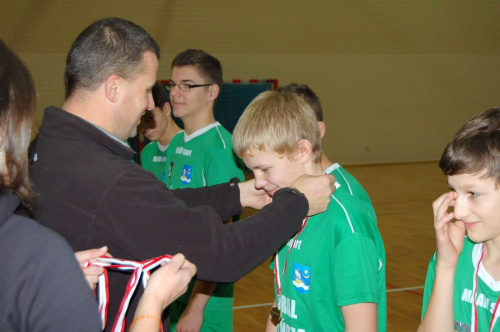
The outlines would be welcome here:
M 425 279 L 419 331 L 500 327 L 499 156 L 500 108 L 469 120 L 441 156 L 451 191 L 432 205 L 437 250 Z

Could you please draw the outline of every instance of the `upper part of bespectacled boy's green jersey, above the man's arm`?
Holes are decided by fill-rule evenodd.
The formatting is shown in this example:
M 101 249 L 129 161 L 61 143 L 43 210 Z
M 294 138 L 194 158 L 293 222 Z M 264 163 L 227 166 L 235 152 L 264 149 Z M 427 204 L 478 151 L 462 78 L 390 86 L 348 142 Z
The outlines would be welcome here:
M 218 122 L 189 136 L 184 131 L 175 135 L 167 150 L 167 187 L 199 188 L 233 177 L 243 181 L 243 162 L 234 154 L 231 138 Z

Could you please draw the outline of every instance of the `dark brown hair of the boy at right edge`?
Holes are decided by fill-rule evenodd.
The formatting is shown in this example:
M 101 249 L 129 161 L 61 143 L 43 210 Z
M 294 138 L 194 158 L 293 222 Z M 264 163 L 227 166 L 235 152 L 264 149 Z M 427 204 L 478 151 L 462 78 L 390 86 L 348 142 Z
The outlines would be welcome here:
M 483 111 L 460 128 L 439 167 L 445 175 L 481 174 L 500 184 L 500 108 Z

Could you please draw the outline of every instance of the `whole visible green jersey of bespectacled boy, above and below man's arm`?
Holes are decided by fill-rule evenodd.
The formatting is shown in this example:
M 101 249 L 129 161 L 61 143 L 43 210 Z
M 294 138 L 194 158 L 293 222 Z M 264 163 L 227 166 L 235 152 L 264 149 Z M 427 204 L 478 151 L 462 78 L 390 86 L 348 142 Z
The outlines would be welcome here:
M 243 162 L 233 152 L 231 134 L 215 122 L 191 135 L 179 132 L 167 150 L 166 184 L 170 189 L 199 188 L 245 179 Z M 195 230 L 193 230 L 195 231 Z M 170 328 L 189 301 L 195 280 L 170 308 Z M 217 284 L 205 306 L 201 331 L 232 331 L 233 283 Z

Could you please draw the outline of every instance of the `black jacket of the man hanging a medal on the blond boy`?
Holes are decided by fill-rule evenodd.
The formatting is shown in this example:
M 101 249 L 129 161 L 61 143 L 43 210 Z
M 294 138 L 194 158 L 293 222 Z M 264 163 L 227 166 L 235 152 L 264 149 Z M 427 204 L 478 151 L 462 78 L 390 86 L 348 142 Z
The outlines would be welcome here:
M 224 225 L 242 212 L 236 182 L 167 190 L 130 162 L 131 149 L 56 107 L 45 110 L 32 151 L 35 219 L 74 250 L 107 245 L 114 257 L 133 260 L 183 253 L 207 281 L 234 282 L 250 272 L 298 231 L 308 211 L 304 195 L 282 189 L 252 217 Z M 128 278 L 110 273 L 110 319 Z

